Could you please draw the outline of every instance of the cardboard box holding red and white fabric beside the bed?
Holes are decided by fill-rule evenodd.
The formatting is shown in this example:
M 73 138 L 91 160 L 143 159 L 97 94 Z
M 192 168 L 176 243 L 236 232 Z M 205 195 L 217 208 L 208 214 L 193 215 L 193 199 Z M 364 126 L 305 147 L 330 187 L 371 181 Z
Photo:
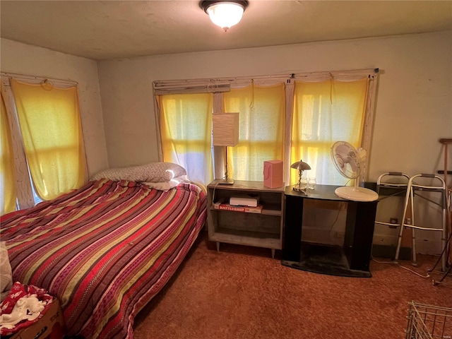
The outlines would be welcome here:
M 59 300 L 54 299 L 42 318 L 8 339 L 62 339 L 65 334 L 63 311 L 61 311 Z

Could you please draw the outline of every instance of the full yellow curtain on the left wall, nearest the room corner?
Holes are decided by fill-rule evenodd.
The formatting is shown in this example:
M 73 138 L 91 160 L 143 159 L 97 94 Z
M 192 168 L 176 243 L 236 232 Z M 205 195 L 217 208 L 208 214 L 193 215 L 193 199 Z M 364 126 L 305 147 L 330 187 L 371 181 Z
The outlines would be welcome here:
M 51 200 L 85 184 L 77 88 L 11 79 L 25 156 L 37 194 Z

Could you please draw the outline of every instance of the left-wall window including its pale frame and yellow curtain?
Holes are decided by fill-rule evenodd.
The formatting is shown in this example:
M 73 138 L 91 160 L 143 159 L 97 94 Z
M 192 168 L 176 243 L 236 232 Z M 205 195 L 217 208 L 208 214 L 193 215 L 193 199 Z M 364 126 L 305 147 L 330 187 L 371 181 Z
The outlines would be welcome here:
M 51 200 L 82 186 L 87 171 L 76 84 L 4 73 L 1 82 L 19 208 L 33 206 L 34 194 Z

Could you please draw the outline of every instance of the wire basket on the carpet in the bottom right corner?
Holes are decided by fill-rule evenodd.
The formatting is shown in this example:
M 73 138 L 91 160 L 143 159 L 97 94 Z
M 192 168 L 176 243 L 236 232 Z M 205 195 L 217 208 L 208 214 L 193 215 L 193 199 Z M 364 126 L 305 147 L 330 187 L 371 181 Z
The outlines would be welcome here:
M 406 339 L 452 339 L 452 309 L 409 304 Z

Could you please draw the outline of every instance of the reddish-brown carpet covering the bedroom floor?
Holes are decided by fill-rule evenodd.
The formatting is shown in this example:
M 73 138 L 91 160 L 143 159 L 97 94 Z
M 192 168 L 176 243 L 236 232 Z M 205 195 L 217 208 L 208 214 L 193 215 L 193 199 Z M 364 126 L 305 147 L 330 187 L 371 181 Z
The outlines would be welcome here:
M 178 273 L 136 317 L 135 339 L 403 339 L 408 302 L 452 307 L 452 277 L 371 261 L 372 278 L 281 265 L 280 251 L 214 243 L 202 232 Z M 279 252 L 279 253 L 278 253 Z M 385 259 L 381 259 L 384 261 Z M 425 275 L 436 261 L 400 264 Z M 452 333 L 447 333 L 452 335 Z M 450 337 L 447 337 L 450 338 Z

